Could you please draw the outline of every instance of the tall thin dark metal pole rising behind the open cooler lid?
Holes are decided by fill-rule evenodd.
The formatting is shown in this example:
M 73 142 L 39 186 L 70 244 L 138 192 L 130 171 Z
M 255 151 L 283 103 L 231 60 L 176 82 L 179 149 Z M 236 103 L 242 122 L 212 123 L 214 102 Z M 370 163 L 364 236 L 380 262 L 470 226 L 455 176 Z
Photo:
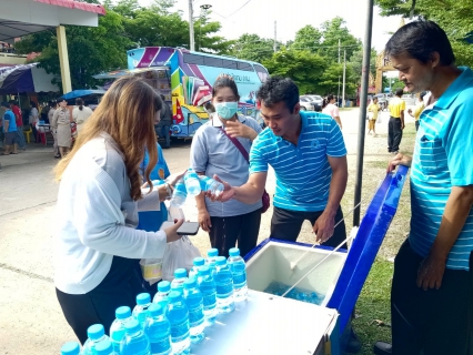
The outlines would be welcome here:
M 370 77 L 370 57 L 371 57 L 371 33 L 373 30 L 373 6 L 374 0 L 365 0 L 366 4 L 366 28 L 363 41 L 363 67 L 361 75 L 360 91 L 360 118 L 358 129 L 358 154 L 356 154 L 356 175 L 353 205 L 356 206 L 361 201 L 361 187 L 363 181 L 363 154 L 364 154 L 364 131 L 366 123 L 366 101 L 368 101 L 368 80 Z M 360 207 L 353 213 L 353 225 L 360 225 Z

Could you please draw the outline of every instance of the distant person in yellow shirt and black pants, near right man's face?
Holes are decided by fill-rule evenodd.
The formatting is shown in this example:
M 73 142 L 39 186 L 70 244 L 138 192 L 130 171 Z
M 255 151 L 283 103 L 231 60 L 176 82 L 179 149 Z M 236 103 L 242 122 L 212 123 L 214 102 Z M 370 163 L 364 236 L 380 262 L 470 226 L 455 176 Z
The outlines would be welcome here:
M 397 89 L 395 97 L 390 101 L 390 123 L 388 125 L 388 152 L 397 154 L 404 129 L 405 101 L 401 99 L 404 91 Z

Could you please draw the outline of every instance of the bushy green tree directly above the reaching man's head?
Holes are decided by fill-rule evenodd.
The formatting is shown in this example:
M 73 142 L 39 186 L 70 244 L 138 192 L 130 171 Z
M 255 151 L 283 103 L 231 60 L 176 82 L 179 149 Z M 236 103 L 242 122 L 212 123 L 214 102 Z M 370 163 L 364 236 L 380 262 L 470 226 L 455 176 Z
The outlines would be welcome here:
M 308 50 L 288 50 L 282 48 L 271 59 L 263 61 L 272 75 L 288 77 L 294 80 L 299 92 L 314 93 L 318 82 L 326 69 L 326 61 L 319 54 Z

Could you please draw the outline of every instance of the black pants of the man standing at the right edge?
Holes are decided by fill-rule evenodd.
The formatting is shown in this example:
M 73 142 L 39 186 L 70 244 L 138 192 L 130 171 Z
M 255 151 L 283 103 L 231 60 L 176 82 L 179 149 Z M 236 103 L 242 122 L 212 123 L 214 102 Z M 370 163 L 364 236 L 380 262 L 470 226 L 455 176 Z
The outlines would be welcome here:
M 471 355 L 472 276 L 467 271 L 446 268 L 442 286 L 424 291 L 416 285 L 423 260 L 406 240 L 394 261 L 391 290 L 393 354 Z

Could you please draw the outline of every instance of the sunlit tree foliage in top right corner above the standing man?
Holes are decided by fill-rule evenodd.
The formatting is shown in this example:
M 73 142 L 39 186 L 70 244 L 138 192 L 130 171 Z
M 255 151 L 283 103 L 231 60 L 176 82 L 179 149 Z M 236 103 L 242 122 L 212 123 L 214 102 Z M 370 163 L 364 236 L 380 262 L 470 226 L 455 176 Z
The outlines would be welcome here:
M 436 22 L 449 37 L 456 64 L 473 67 L 473 7 L 471 0 L 376 0 L 382 16 L 413 16 Z M 414 7 L 413 7 L 414 6 Z M 412 8 L 414 11 L 411 11 Z M 454 14 L 454 19 L 452 18 Z

